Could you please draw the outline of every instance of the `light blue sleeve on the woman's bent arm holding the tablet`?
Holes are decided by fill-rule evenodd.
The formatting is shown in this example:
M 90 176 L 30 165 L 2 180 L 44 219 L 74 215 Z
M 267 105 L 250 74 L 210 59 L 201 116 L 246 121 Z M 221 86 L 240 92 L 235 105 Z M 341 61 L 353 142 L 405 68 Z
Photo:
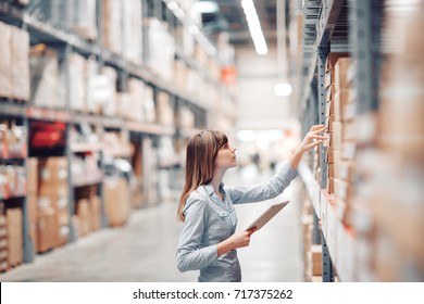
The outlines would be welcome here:
M 200 248 L 204 231 L 204 199 L 189 197 L 184 211 L 185 221 L 176 253 L 179 271 L 207 267 L 217 258 L 217 245 Z

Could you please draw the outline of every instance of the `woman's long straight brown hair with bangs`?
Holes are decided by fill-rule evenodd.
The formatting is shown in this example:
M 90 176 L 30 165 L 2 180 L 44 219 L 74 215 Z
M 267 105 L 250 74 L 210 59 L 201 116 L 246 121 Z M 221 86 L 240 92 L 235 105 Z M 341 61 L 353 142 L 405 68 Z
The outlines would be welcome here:
M 178 220 L 185 220 L 183 210 L 190 192 L 212 180 L 217 151 L 227 142 L 225 134 L 216 130 L 202 130 L 188 141 L 186 179 L 178 203 Z

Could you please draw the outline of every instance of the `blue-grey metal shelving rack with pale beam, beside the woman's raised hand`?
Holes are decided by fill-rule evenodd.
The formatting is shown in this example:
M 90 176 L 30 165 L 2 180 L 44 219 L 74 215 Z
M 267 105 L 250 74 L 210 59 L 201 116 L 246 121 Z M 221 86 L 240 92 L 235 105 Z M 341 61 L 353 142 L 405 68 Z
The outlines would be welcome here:
M 299 113 L 302 132 L 311 125 L 325 125 L 325 61 L 329 52 L 350 53 L 356 66 L 354 91 L 357 113 L 366 113 L 378 105 L 378 64 L 381 1 L 313 0 L 303 5 L 302 61 L 299 96 Z M 337 215 L 335 202 L 326 193 L 327 148 L 321 144 L 320 182 L 315 180 L 311 164 L 302 162 L 299 174 L 304 182 L 315 213 L 313 243 L 322 244 L 322 279 L 354 281 L 349 267 L 332 259 L 337 246 L 352 249 L 354 231 L 346 227 Z M 319 224 L 320 223 L 320 226 Z M 346 257 L 349 258 L 349 257 Z M 349 261 L 353 265 L 353 261 Z

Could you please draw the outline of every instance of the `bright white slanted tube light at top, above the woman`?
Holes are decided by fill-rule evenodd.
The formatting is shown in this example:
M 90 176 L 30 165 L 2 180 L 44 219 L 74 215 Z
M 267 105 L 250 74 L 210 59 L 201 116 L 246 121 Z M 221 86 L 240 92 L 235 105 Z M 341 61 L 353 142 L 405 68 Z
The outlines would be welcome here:
M 241 7 L 245 11 L 246 21 L 249 26 L 250 36 L 252 37 L 254 49 L 259 55 L 267 54 L 265 38 L 263 37 L 261 23 L 258 17 L 257 9 L 252 0 L 241 0 Z

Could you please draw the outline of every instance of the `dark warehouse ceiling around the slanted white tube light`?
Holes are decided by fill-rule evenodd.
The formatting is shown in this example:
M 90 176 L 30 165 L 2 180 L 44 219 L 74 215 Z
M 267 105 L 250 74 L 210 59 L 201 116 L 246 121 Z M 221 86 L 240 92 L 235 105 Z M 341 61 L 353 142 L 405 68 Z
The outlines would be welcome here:
M 276 43 L 276 1 L 253 1 L 267 45 Z M 216 4 L 216 11 L 201 13 L 203 33 L 207 36 L 213 37 L 216 34 L 226 31 L 229 36 L 229 42 L 236 47 L 253 45 L 240 0 L 198 0 L 198 2 Z M 286 3 L 288 2 L 286 1 Z

